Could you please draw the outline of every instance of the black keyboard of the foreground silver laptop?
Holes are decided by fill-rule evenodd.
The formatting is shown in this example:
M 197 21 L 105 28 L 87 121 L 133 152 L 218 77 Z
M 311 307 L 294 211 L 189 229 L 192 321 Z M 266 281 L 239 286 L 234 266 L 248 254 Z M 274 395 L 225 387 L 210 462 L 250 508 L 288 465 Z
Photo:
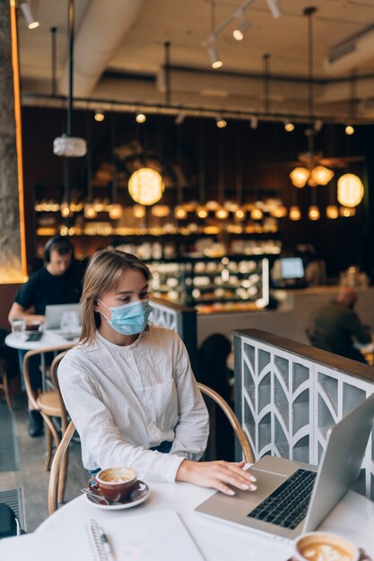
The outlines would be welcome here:
M 247 516 L 294 530 L 306 516 L 317 471 L 297 470 Z

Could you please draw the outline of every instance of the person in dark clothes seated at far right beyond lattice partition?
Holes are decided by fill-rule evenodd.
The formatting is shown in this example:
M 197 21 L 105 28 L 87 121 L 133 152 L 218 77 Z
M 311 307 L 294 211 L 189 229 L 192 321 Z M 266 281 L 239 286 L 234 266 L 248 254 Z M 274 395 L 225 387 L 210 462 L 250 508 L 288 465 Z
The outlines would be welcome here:
M 328 345 L 336 355 L 366 363 L 360 350 L 353 346 L 354 341 L 362 344 L 371 342 L 370 328 L 361 324 L 359 316 L 354 312 L 356 301 L 356 289 L 341 286 L 336 300 L 317 310 L 314 326 L 317 332 L 326 333 Z M 315 346 L 323 348 L 317 343 Z

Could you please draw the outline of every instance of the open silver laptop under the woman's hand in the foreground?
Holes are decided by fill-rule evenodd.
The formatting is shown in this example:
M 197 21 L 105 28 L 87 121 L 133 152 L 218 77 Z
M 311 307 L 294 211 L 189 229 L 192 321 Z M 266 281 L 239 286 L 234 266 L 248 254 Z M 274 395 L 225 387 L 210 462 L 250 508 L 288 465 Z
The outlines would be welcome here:
M 314 531 L 358 478 L 374 420 L 374 393 L 330 431 L 319 469 L 264 456 L 250 468 L 257 491 L 217 492 L 196 511 L 283 539 Z

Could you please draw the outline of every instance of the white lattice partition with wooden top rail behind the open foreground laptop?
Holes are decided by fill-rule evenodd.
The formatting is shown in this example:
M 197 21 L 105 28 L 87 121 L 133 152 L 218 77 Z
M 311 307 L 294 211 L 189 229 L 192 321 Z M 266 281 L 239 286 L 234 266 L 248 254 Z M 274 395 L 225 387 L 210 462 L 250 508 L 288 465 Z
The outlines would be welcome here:
M 236 332 L 236 412 L 256 459 L 317 465 L 326 434 L 374 392 L 374 369 L 257 330 Z M 374 436 L 356 490 L 374 499 Z

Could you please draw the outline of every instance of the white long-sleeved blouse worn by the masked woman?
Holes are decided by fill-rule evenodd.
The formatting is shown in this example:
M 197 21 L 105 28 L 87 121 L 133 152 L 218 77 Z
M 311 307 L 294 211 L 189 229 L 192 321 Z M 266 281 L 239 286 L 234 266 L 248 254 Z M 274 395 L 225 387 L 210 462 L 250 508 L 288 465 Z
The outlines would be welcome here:
M 203 455 L 208 413 L 177 333 L 150 326 L 121 347 L 96 332 L 65 355 L 58 380 L 87 470 L 131 466 L 174 481 L 184 458 Z M 170 453 L 148 450 L 163 440 Z

